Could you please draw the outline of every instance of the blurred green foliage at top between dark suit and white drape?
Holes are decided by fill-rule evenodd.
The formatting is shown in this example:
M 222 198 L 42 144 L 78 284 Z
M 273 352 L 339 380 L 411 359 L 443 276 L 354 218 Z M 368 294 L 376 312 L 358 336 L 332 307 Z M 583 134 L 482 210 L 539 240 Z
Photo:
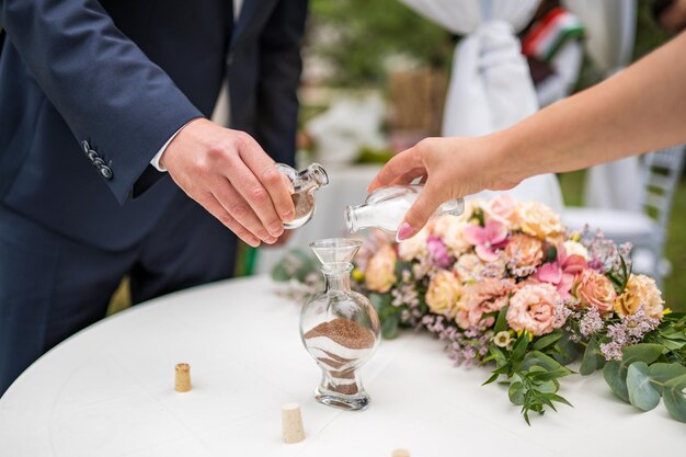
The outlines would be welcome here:
M 398 0 L 312 0 L 310 10 L 306 47 L 333 65 L 332 85 L 379 85 L 398 54 L 447 68 L 450 35 Z

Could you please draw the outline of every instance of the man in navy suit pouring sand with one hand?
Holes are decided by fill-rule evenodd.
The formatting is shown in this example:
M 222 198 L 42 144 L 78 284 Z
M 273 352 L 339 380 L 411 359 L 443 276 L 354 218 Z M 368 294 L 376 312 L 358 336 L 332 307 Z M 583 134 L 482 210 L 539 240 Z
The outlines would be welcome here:
M 273 243 L 293 218 L 273 164 L 307 0 L 233 7 L 0 0 L 0 395 L 124 275 L 134 302 L 230 277 L 233 233 Z M 233 129 L 207 119 L 225 79 Z

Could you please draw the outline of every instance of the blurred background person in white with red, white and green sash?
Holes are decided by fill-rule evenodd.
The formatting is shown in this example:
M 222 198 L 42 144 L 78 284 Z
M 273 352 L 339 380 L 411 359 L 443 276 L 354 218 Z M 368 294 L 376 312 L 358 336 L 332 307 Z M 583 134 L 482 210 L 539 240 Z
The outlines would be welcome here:
M 540 2 L 531 22 L 519 33 L 539 106 L 569 95 L 581 70 L 584 27 L 559 0 Z

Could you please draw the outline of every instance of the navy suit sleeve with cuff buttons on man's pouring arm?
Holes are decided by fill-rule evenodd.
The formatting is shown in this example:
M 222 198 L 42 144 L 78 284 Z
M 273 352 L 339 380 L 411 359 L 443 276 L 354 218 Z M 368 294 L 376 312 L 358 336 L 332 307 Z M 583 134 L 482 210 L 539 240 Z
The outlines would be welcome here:
M 156 181 L 160 147 L 202 116 L 96 0 L 0 0 L 0 25 L 77 138 L 73 152 L 88 141 L 108 164 L 122 204 Z

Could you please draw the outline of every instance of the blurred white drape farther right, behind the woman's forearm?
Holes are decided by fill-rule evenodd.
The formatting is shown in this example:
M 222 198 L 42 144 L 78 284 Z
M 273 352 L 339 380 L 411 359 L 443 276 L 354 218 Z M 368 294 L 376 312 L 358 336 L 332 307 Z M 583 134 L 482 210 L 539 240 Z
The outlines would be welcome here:
M 586 52 L 605 75 L 621 71 L 631 61 L 636 36 L 636 0 L 565 0 L 586 27 Z M 642 188 L 638 157 L 592 168 L 584 188 L 586 206 L 641 210 Z

